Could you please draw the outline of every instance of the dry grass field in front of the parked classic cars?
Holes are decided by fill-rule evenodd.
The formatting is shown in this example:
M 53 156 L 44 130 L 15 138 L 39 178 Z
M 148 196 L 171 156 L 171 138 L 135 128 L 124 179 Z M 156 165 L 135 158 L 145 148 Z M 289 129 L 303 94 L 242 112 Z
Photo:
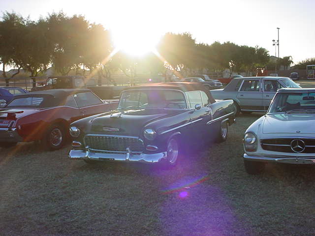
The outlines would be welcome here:
M 225 143 L 174 170 L 91 166 L 67 159 L 69 146 L 0 149 L 0 235 L 315 235 L 315 167 L 244 170 L 243 134 L 261 115 L 237 117 Z

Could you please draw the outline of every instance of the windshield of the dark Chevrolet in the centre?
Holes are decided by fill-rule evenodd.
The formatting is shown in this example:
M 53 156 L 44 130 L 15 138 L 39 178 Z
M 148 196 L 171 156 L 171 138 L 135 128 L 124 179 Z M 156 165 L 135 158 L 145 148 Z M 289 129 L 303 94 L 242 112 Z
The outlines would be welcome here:
M 185 96 L 176 90 L 145 89 L 122 93 L 119 109 L 185 109 Z

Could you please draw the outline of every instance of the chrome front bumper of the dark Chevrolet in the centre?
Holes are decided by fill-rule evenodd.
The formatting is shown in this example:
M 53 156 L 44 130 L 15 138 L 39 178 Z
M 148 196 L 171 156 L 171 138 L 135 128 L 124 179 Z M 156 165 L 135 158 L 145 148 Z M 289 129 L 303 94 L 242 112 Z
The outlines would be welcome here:
M 93 152 L 90 150 L 70 150 L 68 157 L 73 160 L 95 160 L 95 161 L 123 161 L 123 162 L 142 162 L 158 163 L 166 159 L 166 152 L 152 154 L 133 154 L 133 153 L 108 153 Z

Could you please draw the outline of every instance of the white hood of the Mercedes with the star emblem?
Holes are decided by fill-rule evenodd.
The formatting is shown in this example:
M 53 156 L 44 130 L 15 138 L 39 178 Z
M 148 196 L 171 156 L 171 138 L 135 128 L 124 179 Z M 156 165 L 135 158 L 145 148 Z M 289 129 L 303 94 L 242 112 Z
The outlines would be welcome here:
M 315 134 L 315 114 L 275 114 L 266 115 L 263 133 Z

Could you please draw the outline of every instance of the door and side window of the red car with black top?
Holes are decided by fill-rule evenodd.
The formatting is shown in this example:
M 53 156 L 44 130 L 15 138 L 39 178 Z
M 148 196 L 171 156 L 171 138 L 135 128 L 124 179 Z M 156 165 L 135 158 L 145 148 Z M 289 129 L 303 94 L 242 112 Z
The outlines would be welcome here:
M 73 95 L 81 117 L 88 117 L 110 110 L 110 104 L 104 103 L 92 91 L 79 92 Z

